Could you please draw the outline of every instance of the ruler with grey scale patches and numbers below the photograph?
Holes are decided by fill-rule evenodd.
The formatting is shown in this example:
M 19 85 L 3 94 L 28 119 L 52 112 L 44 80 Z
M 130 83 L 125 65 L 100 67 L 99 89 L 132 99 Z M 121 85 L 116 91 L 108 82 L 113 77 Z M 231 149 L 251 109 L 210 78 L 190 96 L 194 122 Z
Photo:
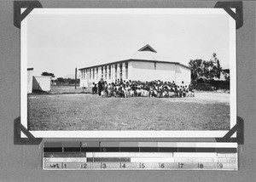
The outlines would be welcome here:
M 44 170 L 238 170 L 236 143 L 44 142 Z

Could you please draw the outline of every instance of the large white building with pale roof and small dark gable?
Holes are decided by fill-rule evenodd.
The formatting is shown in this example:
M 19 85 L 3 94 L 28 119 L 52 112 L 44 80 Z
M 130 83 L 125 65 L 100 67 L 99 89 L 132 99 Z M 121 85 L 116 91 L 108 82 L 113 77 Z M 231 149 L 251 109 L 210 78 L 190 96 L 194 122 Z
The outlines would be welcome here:
M 80 87 L 91 87 L 93 82 L 115 82 L 117 79 L 125 81 L 136 80 L 150 82 L 160 80 L 189 85 L 191 69 L 178 62 L 161 60 L 159 54 L 149 45 L 137 50 L 135 54 L 119 59 L 96 61 L 94 65 L 80 68 Z

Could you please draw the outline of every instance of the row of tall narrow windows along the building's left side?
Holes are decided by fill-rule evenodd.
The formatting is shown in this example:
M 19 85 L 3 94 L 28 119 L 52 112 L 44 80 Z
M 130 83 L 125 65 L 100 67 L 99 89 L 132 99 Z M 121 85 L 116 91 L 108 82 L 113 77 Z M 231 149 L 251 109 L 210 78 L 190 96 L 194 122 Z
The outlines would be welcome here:
M 119 66 L 119 78 L 123 78 L 123 63 L 115 64 L 114 67 L 114 79 L 118 76 L 118 66 Z M 89 69 L 84 69 L 81 71 L 82 79 L 85 79 L 85 75 L 91 80 L 98 80 L 99 70 L 102 71 L 102 78 L 107 80 L 111 79 L 111 65 L 105 65 L 101 67 L 94 67 Z M 125 62 L 125 79 L 128 79 L 128 62 Z

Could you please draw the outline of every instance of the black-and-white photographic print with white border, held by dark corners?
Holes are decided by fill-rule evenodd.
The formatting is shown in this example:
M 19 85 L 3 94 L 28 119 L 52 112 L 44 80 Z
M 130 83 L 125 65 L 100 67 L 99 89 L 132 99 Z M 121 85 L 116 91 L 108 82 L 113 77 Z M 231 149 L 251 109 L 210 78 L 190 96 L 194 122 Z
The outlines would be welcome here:
M 33 9 L 21 123 L 36 137 L 222 137 L 236 124 L 224 9 Z

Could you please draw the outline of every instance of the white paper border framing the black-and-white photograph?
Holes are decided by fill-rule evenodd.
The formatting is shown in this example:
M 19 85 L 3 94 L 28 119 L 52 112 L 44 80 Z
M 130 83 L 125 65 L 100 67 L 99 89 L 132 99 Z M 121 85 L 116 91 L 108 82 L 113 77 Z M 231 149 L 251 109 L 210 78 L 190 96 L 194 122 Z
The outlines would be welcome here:
M 224 9 L 33 9 L 20 23 L 20 122 L 27 128 L 27 19 L 32 14 L 227 14 Z M 230 128 L 236 125 L 236 20 L 230 26 Z M 36 138 L 222 138 L 229 130 L 32 131 Z M 21 137 L 25 137 L 24 134 Z M 232 137 L 236 137 L 234 134 Z

